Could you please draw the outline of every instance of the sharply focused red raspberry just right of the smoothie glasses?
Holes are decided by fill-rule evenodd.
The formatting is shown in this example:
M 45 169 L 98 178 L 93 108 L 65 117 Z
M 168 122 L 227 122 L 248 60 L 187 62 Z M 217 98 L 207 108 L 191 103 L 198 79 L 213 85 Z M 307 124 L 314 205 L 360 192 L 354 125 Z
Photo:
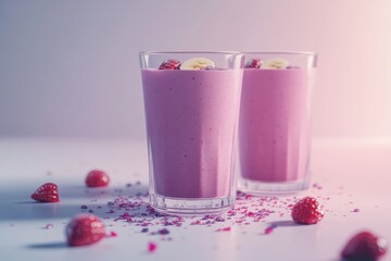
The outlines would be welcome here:
M 312 197 L 305 197 L 293 206 L 292 219 L 297 223 L 316 224 L 324 217 L 321 207 Z

